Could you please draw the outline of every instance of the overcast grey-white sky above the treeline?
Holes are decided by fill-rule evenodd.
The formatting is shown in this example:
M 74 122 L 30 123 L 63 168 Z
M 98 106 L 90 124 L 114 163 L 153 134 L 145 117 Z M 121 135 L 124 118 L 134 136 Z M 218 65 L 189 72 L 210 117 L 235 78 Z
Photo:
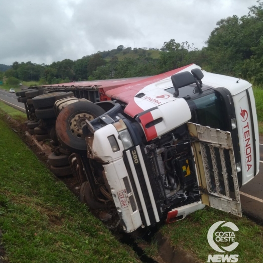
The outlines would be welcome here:
M 0 64 L 51 64 L 124 47 L 205 41 L 256 0 L 0 0 Z

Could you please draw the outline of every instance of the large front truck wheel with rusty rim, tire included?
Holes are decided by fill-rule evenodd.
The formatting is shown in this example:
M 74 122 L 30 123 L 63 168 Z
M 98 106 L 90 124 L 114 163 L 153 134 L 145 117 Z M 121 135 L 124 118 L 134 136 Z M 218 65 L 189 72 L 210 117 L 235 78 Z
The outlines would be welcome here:
M 63 146 L 72 152 L 86 152 L 81 127 L 86 119 L 92 120 L 104 113 L 100 106 L 89 101 L 75 102 L 62 109 L 56 120 L 56 132 Z

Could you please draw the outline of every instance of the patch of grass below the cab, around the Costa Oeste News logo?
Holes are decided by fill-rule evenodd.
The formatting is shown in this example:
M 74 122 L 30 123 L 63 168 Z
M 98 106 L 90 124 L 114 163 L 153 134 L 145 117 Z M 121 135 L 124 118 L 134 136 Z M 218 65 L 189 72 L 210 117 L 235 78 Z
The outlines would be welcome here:
M 208 244 L 207 232 L 212 224 L 222 220 L 230 221 L 239 228 L 239 231 L 235 232 L 235 241 L 239 245 L 226 254 L 238 254 L 240 263 L 263 262 L 263 227 L 245 216 L 238 218 L 213 208 L 206 208 L 196 211 L 182 221 L 163 226 L 161 232 L 169 237 L 173 246 L 191 252 L 200 262 L 207 262 L 208 254 L 221 254 Z M 228 227 L 221 227 L 221 230 L 230 231 Z M 230 243 L 219 244 L 227 246 Z

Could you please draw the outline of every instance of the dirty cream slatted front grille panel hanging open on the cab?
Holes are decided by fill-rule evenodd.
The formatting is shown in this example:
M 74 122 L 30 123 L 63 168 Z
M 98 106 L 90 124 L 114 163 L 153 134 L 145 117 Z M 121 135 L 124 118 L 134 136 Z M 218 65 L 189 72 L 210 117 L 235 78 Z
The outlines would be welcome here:
M 236 164 L 228 131 L 188 122 L 202 203 L 241 217 Z

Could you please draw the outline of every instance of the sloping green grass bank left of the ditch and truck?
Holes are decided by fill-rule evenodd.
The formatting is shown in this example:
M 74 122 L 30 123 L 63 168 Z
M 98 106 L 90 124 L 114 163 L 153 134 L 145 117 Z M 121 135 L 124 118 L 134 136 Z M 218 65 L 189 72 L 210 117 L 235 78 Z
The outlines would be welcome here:
M 137 262 L 55 178 L 0 110 L 0 229 L 9 262 Z

